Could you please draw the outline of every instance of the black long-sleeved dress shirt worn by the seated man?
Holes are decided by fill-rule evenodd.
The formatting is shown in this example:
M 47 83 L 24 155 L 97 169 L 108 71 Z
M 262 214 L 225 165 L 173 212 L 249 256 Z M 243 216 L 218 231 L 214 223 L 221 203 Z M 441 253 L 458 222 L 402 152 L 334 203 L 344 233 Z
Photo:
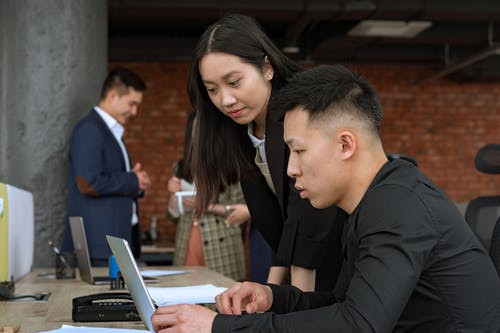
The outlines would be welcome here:
M 387 162 L 344 228 L 333 293 L 274 286 L 264 314 L 217 315 L 213 332 L 499 332 L 500 280 L 445 194 Z

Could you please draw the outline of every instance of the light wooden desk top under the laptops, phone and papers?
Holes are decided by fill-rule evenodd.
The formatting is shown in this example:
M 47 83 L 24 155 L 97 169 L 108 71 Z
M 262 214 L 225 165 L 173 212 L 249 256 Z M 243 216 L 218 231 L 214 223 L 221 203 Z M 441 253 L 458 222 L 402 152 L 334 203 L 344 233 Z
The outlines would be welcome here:
M 165 269 L 165 267 L 157 267 Z M 155 269 L 147 267 L 147 269 Z M 160 283 L 148 284 L 152 287 L 178 287 L 212 283 L 216 286 L 230 287 L 235 281 L 204 267 L 172 267 L 167 269 L 189 270 L 189 273 L 159 277 Z M 51 292 L 46 302 L 0 302 L 0 327 L 20 324 L 21 332 L 33 333 L 39 330 L 51 330 L 62 324 L 78 326 L 121 327 L 145 329 L 142 322 L 85 322 L 74 323 L 71 320 L 72 299 L 74 297 L 109 292 L 109 285 L 90 285 L 79 279 L 56 280 L 40 277 L 40 273 L 52 272 L 53 269 L 36 269 L 16 283 L 16 293 Z M 94 268 L 95 275 L 106 275 L 107 268 Z M 114 291 L 114 290 L 113 290 Z

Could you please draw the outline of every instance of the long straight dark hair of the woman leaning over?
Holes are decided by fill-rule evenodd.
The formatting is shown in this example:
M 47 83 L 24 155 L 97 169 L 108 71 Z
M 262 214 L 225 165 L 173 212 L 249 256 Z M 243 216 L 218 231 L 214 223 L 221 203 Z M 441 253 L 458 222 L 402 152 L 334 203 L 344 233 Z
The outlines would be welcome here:
M 188 78 L 188 94 L 197 113 L 193 140 L 193 175 L 197 188 L 197 213 L 215 202 L 231 184 L 253 174 L 248 155 L 252 149 L 247 127 L 223 115 L 210 100 L 199 72 L 199 62 L 211 52 L 238 56 L 259 70 L 266 57 L 274 69 L 273 94 L 284 86 L 300 67 L 287 58 L 254 19 L 230 14 L 212 24 L 195 48 Z M 271 95 L 272 98 L 272 95 Z

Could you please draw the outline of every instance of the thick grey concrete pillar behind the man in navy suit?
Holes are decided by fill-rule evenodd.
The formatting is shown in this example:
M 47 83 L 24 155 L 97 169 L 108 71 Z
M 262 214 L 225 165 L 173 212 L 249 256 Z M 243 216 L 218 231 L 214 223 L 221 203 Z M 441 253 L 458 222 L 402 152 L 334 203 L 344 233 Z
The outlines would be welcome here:
M 0 22 L 0 181 L 33 193 L 34 264 L 52 266 L 69 136 L 106 75 L 107 1 L 0 0 Z

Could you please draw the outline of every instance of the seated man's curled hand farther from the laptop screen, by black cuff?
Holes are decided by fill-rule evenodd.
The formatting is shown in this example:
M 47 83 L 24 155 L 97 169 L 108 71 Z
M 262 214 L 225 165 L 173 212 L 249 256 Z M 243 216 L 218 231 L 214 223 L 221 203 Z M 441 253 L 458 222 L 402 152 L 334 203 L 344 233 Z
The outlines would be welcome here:
M 217 310 L 222 314 L 265 312 L 273 304 L 273 292 L 269 286 L 255 282 L 237 283 L 215 296 Z

